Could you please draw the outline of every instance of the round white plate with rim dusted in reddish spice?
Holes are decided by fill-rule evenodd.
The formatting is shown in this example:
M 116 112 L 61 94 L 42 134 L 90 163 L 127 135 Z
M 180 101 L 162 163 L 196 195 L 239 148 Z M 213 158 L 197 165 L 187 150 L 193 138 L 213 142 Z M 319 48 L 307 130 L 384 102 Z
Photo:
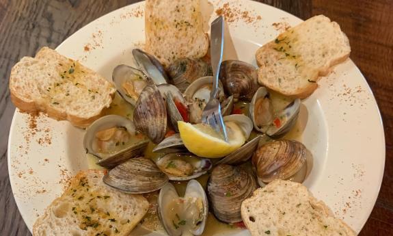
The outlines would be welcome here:
M 301 23 L 268 5 L 228 2 L 235 16 L 229 25 L 239 59 L 252 64 L 256 49 L 275 38 L 278 28 Z M 215 10 L 224 3 L 213 2 Z M 131 49 L 144 42 L 143 12 L 143 2 L 111 12 L 70 36 L 57 51 L 111 80 L 113 68 L 131 64 Z M 322 78 L 303 104 L 306 108 L 300 116 L 306 128 L 302 140 L 314 155 L 312 172 L 304 184 L 359 232 L 377 199 L 385 162 L 377 103 L 360 70 L 347 60 Z M 8 147 L 12 191 L 30 230 L 38 215 L 62 193 L 66 179 L 87 168 L 83 130 L 46 116 L 36 118 L 37 128 L 31 129 L 33 121 L 16 110 Z

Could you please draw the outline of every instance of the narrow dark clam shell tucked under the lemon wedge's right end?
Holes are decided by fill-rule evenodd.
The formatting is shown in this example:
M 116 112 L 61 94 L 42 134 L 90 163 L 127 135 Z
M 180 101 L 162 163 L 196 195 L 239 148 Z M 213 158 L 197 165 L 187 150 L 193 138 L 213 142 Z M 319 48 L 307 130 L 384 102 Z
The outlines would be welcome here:
M 219 160 L 216 164 L 235 165 L 248 161 L 258 146 L 260 137 L 261 136 L 254 137 L 254 139 L 241 146 L 238 150 L 235 150 L 233 153 L 230 153 L 230 155 L 223 157 L 223 159 Z

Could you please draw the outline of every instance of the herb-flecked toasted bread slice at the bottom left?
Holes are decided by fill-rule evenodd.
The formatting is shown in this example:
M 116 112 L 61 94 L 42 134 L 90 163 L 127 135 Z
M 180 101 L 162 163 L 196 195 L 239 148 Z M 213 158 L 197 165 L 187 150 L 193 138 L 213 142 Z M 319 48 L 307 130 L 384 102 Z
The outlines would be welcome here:
M 148 200 L 124 194 L 102 181 L 103 171 L 85 170 L 53 200 L 33 225 L 33 236 L 126 236 L 148 211 Z

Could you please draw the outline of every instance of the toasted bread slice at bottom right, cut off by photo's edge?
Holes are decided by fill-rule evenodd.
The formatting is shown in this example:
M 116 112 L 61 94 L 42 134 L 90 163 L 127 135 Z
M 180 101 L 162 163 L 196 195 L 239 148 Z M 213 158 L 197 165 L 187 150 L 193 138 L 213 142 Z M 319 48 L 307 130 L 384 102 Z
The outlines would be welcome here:
M 241 218 L 252 236 L 355 236 L 334 218 L 324 202 L 300 183 L 277 180 L 256 189 L 241 205 Z

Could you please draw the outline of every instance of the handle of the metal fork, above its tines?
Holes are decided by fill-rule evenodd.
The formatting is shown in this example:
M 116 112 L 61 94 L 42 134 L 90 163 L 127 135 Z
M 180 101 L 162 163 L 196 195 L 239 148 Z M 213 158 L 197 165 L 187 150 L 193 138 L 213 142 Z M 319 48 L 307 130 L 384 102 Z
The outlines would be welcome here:
M 211 23 L 211 66 L 213 68 L 213 89 L 211 90 L 211 98 L 217 98 L 219 92 L 219 68 L 223 56 L 223 16 Z

